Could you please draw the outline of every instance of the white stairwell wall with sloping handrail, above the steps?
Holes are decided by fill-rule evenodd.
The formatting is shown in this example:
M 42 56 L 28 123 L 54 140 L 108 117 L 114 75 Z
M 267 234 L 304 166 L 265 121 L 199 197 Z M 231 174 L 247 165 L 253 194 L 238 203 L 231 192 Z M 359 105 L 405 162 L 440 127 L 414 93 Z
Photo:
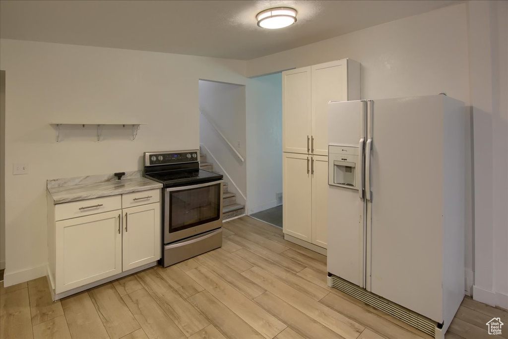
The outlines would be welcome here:
M 203 111 L 200 115 L 200 143 L 224 168 L 240 195 L 246 196 L 245 86 L 200 80 L 199 106 Z M 241 161 L 208 120 L 223 133 L 245 161 Z M 207 161 L 213 162 L 210 156 L 207 156 Z M 219 171 L 217 166 L 214 169 Z M 228 187 L 234 192 L 232 186 L 230 182 Z

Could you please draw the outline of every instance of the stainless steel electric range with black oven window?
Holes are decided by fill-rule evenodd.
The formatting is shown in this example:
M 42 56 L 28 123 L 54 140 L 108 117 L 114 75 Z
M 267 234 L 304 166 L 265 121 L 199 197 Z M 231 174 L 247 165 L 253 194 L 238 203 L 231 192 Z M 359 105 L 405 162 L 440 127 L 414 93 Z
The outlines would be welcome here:
M 222 246 L 223 175 L 199 159 L 199 150 L 144 153 L 143 175 L 164 185 L 164 267 Z

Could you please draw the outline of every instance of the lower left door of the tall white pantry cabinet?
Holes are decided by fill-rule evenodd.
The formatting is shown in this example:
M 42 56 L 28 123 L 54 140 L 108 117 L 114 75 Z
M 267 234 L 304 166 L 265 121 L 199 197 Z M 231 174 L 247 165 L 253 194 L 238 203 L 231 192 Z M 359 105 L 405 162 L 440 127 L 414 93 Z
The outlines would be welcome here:
M 285 234 L 311 242 L 310 156 L 283 153 L 282 230 Z

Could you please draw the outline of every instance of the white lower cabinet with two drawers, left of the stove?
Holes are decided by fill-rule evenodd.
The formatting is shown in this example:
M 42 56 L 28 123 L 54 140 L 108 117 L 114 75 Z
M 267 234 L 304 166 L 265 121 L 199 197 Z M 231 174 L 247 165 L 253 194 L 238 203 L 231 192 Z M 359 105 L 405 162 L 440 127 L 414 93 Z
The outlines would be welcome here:
M 48 274 L 55 298 L 161 258 L 161 191 L 145 194 L 150 198 L 132 193 L 48 204 Z M 122 200 L 138 206 L 121 209 Z

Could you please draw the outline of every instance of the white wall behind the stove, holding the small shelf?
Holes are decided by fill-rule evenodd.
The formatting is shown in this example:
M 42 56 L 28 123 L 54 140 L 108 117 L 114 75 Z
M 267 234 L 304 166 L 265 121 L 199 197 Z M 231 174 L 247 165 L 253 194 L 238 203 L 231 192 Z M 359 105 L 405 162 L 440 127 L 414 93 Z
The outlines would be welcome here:
M 199 147 L 198 80 L 245 83 L 245 62 L 26 41 L 0 41 L 6 84 L 6 286 L 45 274 L 46 180 L 134 171 L 145 151 Z M 145 122 L 130 128 L 50 122 Z M 27 175 L 12 165 L 28 163 Z

